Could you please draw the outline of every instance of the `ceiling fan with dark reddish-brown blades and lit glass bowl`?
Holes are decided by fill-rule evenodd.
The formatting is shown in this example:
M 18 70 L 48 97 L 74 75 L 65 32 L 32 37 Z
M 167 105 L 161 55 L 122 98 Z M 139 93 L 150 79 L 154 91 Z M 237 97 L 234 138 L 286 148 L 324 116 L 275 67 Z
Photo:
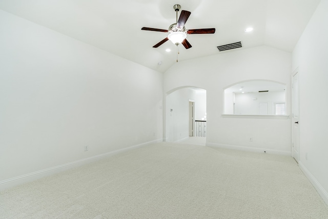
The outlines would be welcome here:
M 168 30 L 164 29 L 157 29 L 157 28 L 149 28 L 143 27 L 141 30 L 149 30 L 149 31 L 158 31 L 158 32 L 169 32 L 169 35 L 160 41 L 158 44 L 154 45 L 154 48 L 159 47 L 163 43 L 167 42 L 168 40 L 172 41 L 173 44 L 178 46 L 182 44 L 186 49 L 190 49 L 192 46 L 187 41 L 186 37 L 187 34 L 208 34 L 208 33 L 215 33 L 215 28 L 207 28 L 207 29 L 191 29 L 187 30 L 185 24 L 191 14 L 190 11 L 182 10 L 181 14 L 178 19 L 178 11 L 181 9 L 181 6 L 176 4 L 173 6 L 174 10 L 176 11 L 176 23 L 172 24 Z

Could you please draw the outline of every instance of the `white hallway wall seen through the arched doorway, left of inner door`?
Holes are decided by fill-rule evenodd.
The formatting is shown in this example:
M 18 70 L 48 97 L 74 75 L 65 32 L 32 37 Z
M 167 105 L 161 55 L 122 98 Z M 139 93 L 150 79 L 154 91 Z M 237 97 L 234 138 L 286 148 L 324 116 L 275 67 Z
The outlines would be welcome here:
M 175 142 L 189 136 L 189 99 L 195 100 L 195 94 L 193 89 L 182 88 L 167 95 L 167 142 Z

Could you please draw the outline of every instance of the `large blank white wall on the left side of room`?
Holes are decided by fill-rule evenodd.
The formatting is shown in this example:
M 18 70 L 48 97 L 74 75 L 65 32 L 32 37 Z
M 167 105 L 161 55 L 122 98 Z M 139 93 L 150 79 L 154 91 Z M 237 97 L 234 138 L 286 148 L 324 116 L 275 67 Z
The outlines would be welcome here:
M 2 10 L 0 26 L 0 184 L 162 140 L 162 73 Z

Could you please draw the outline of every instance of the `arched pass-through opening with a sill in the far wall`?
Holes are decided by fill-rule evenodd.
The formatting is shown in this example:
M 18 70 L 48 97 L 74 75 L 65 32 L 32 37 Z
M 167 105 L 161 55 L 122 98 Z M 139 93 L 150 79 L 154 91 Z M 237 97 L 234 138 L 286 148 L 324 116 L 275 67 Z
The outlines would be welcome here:
M 285 115 L 286 85 L 269 80 L 238 82 L 224 89 L 223 114 Z

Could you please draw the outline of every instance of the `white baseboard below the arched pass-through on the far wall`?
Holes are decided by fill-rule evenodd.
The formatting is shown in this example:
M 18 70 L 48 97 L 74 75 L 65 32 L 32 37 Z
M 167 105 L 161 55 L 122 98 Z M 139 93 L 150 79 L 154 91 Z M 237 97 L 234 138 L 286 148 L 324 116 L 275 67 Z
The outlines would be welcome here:
M 206 143 L 206 146 L 216 147 L 216 148 L 224 148 L 224 149 L 260 152 L 260 153 L 264 153 L 264 151 L 265 151 L 265 153 L 292 156 L 291 151 L 275 150 L 275 149 L 268 149 L 268 148 L 254 148 L 254 147 L 247 147 L 247 146 L 225 145 L 225 144 L 208 143 L 208 142 Z

